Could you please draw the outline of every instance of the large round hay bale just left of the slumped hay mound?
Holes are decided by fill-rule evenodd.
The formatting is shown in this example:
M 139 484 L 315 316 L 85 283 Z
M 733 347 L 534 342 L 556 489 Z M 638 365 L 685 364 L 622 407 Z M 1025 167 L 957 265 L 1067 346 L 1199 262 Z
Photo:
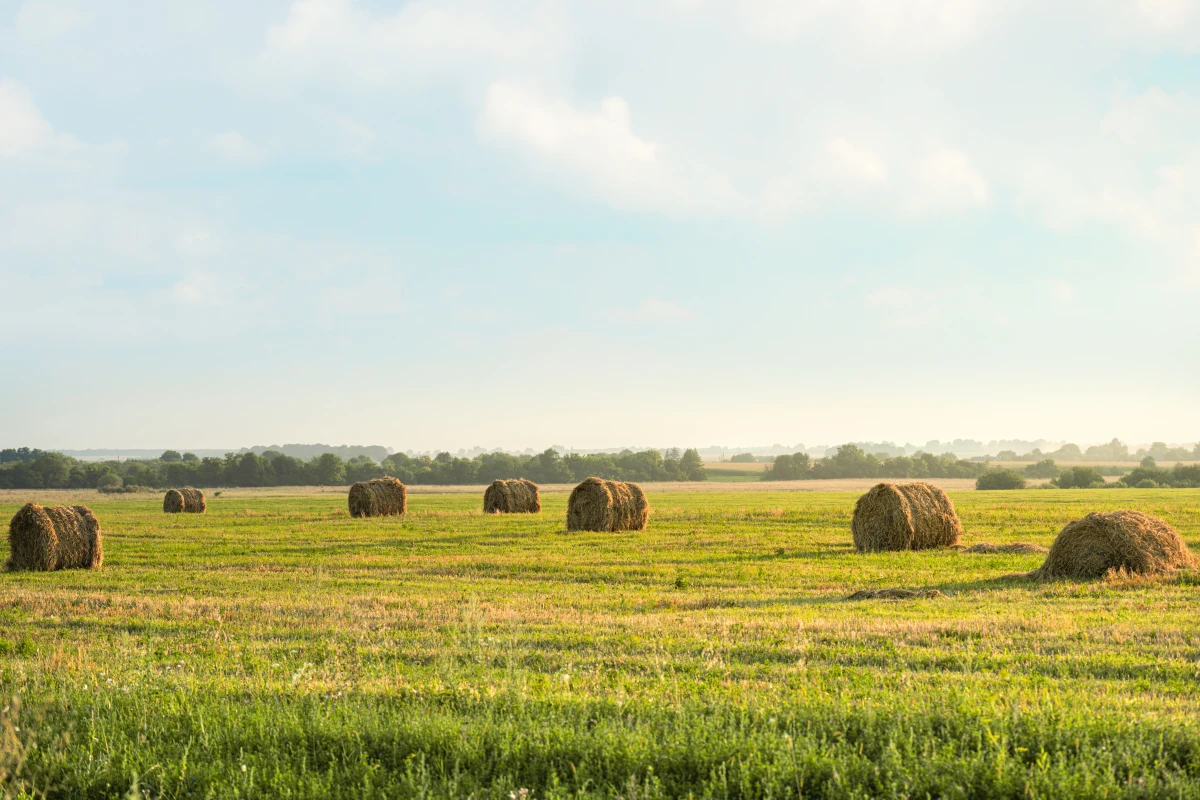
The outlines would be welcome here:
M 962 523 L 931 483 L 880 483 L 858 498 L 850 530 L 859 552 L 923 551 L 956 545 Z

